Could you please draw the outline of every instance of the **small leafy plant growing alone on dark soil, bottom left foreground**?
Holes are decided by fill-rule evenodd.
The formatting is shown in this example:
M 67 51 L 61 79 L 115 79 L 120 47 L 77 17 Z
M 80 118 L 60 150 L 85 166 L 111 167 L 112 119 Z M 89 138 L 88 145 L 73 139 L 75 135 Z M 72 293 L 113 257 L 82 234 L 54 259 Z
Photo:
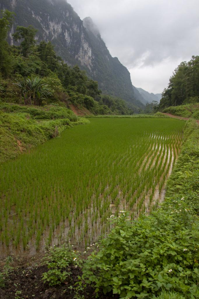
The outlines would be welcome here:
M 74 265 L 80 266 L 82 261 L 79 259 L 79 252 L 73 251 L 70 245 L 63 245 L 58 248 L 51 248 L 45 258 L 45 264 L 48 271 L 43 273 L 42 280 L 50 286 L 61 284 L 70 277 L 68 267 Z

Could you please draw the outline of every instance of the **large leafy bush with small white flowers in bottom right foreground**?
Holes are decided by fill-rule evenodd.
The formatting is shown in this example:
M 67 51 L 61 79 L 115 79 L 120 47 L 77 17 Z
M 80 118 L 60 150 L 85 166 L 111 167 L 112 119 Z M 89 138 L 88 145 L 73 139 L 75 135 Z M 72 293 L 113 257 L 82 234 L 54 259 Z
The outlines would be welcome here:
M 196 232 L 187 231 L 170 211 L 128 220 L 123 213 L 115 219 L 100 251 L 84 264 L 82 279 L 94 284 L 96 292 L 102 288 L 120 298 L 148 298 L 162 289 L 183 292 L 188 298 L 196 294 Z

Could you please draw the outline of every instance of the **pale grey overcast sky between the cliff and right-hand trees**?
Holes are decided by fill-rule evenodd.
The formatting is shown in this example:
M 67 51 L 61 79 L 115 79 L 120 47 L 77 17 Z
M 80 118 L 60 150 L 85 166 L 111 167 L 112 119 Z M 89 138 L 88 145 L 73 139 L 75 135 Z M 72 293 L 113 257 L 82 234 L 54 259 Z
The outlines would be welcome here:
M 199 55 L 198 0 L 68 0 L 90 16 L 132 84 L 161 93 L 181 61 Z

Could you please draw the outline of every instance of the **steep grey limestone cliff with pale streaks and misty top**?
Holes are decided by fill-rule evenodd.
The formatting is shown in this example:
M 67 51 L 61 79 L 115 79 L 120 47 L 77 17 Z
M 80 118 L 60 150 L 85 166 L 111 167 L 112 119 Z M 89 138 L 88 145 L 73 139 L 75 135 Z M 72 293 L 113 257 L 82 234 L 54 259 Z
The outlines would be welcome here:
M 17 25 L 33 25 L 38 29 L 38 41 L 51 41 L 67 64 L 85 69 L 104 93 L 142 107 L 129 71 L 110 55 L 92 19 L 82 21 L 65 0 L 1 0 L 0 9 L 16 13 L 10 43 Z

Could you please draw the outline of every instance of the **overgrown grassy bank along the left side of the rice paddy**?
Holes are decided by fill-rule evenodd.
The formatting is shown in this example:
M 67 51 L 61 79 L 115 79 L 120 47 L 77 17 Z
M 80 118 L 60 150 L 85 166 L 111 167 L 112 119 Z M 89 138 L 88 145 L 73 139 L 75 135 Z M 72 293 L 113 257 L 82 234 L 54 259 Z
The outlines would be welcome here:
M 54 138 L 67 127 L 80 123 L 88 123 L 88 120 L 58 105 L 38 108 L 0 103 L 0 162 L 14 158 Z

